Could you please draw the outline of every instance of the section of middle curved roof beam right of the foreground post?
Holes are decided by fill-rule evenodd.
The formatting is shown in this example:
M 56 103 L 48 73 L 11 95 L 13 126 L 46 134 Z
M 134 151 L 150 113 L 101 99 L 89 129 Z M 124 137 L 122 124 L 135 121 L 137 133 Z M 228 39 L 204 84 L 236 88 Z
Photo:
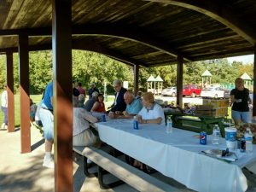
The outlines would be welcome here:
M 153 49 L 160 50 L 167 55 L 177 57 L 183 55 L 176 49 L 172 48 L 172 45 L 166 44 L 163 40 L 154 37 L 148 32 L 143 32 L 141 28 L 134 28 L 132 26 L 119 26 L 119 25 L 90 25 L 90 26 L 73 26 L 73 34 L 91 35 L 91 36 L 108 36 L 114 38 L 124 38 L 137 42 L 138 44 L 144 44 Z M 183 55 L 185 61 L 191 61 L 188 57 Z

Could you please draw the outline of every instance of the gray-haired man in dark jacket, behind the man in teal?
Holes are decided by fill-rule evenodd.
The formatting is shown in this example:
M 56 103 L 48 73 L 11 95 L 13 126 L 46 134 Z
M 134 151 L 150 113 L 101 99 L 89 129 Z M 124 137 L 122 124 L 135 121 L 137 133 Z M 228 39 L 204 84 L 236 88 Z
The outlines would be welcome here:
M 125 92 L 127 91 L 120 80 L 113 81 L 113 89 L 115 90 L 115 98 L 110 110 L 108 112 L 120 113 L 125 111 L 126 103 L 124 99 Z

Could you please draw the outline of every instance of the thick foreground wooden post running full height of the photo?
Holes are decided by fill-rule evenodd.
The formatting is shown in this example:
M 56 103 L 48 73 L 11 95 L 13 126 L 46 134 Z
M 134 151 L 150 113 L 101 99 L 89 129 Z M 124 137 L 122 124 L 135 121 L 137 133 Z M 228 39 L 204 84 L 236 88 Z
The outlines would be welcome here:
M 52 1 L 55 191 L 73 191 L 71 0 Z

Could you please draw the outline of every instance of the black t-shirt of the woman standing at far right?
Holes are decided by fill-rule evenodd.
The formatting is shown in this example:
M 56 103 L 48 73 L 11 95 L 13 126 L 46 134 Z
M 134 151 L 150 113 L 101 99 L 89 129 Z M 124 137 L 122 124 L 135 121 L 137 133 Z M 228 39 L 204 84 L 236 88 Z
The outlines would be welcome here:
M 248 102 L 249 100 L 249 90 L 244 88 L 244 90 L 233 89 L 230 92 L 230 96 L 235 96 L 235 99 L 241 99 L 241 102 L 234 102 L 232 106 L 232 110 L 247 112 L 249 111 Z

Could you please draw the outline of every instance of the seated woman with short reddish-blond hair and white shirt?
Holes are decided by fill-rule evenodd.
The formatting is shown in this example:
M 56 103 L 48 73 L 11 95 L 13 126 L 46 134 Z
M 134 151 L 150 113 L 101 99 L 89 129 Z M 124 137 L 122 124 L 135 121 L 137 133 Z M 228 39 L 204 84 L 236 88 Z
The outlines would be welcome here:
M 165 113 L 159 104 L 154 102 L 154 95 L 151 92 L 143 94 L 143 108 L 137 114 L 138 122 L 141 124 L 165 125 Z

